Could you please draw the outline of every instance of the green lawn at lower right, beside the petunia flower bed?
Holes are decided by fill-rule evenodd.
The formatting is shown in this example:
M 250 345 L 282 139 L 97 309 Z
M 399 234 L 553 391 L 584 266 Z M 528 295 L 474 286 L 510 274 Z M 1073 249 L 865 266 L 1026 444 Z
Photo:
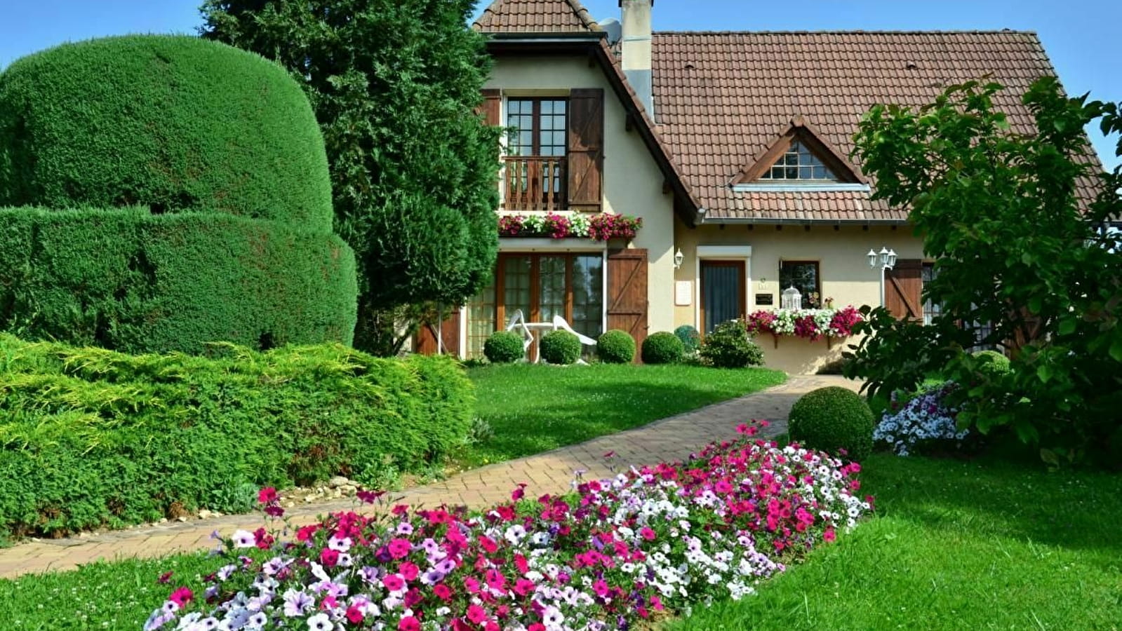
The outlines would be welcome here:
M 877 517 L 665 631 L 1122 629 L 1122 476 L 879 454 Z

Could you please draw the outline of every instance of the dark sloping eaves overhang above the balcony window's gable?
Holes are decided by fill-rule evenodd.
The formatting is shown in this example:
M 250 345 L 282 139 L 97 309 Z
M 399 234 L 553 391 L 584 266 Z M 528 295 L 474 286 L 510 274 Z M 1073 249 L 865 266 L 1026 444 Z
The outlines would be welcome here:
M 605 33 L 574 34 L 497 34 L 487 40 L 487 52 L 491 55 L 587 55 L 589 63 L 597 63 L 608 78 L 616 98 L 623 103 L 627 115 L 627 129 L 638 132 L 651 156 L 662 171 L 665 186 L 674 194 L 674 208 L 687 225 L 701 223 L 703 211 L 698 199 L 686 185 L 678 166 L 664 142 L 654 130 L 654 122 L 643 105 L 628 89 L 627 77 L 618 69 L 608 47 Z M 700 212 L 699 212 L 700 211 Z

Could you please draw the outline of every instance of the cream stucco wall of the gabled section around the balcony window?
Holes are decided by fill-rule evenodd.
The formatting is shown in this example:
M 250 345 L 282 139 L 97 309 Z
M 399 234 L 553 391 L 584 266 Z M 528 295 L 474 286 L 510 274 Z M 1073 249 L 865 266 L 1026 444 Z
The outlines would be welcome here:
M 626 130 L 625 110 L 599 65 L 587 57 L 499 57 L 487 89 L 504 96 L 564 96 L 572 89 L 604 90 L 604 212 L 643 219 L 643 229 L 631 244 L 645 248 L 650 258 L 647 299 L 650 331 L 670 331 L 674 325 L 672 287 L 674 273 L 673 196 L 662 192 L 657 164 L 635 131 Z M 503 120 L 506 120 L 504 99 Z M 504 250 L 517 241 L 504 243 Z

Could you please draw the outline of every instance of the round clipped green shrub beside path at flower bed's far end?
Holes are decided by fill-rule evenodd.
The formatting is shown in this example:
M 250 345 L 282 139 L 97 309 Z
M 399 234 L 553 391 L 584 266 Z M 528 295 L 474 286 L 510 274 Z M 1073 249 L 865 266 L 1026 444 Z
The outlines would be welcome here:
M 839 386 L 819 388 L 803 395 L 791 407 L 791 440 L 804 447 L 861 461 L 873 451 L 873 412 L 865 399 Z

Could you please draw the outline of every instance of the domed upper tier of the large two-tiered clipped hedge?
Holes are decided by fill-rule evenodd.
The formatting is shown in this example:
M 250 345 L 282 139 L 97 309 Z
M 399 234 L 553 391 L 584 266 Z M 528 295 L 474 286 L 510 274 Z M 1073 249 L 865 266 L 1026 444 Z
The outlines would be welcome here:
M 109 37 L 0 73 L 0 206 L 150 206 L 331 232 L 323 137 L 279 65 L 197 37 Z

